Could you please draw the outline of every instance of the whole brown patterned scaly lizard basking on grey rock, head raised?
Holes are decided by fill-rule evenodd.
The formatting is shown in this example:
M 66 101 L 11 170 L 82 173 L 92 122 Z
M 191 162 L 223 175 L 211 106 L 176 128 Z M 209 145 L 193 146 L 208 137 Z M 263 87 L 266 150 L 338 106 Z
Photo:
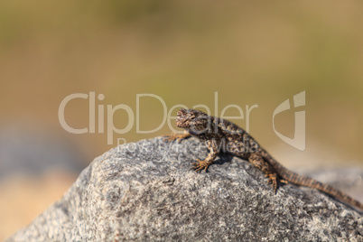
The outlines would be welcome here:
M 164 135 L 167 142 L 181 141 L 195 136 L 201 142 L 204 142 L 209 150 L 209 154 L 203 161 L 197 159 L 196 163 L 192 163 L 191 169 L 196 172 L 202 170 L 207 172 L 209 165 L 214 162 L 219 152 L 227 152 L 247 160 L 263 172 L 265 177 L 268 178 L 268 182 L 272 184 L 275 193 L 279 182 L 290 182 L 298 186 L 322 191 L 343 203 L 363 210 L 363 204 L 358 200 L 354 200 L 348 194 L 329 184 L 324 184 L 321 181 L 316 181 L 285 168 L 243 128 L 227 119 L 209 116 L 200 110 L 181 108 L 177 113 L 175 125 L 183 128 L 184 133 Z

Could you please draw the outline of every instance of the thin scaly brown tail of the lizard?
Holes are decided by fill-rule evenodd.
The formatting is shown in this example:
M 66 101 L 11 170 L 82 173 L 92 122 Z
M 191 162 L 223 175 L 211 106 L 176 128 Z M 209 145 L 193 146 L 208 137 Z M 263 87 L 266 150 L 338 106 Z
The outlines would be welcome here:
M 280 176 L 284 180 L 289 181 L 296 185 L 310 187 L 310 188 L 314 188 L 316 190 L 322 191 L 322 192 L 332 196 L 333 198 L 336 198 L 337 200 L 340 200 L 344 203 L 347 203 L 350 206 L 363 210 L 362 203 L 360 203 L 358 200 L 351 198 L 349 195 L 345 194 L 344 192 L 342 192 L 328 184 L 324 184 L 320 181 L 316 181 L 308 176 L 304 176 L 304 175 L 297 174 L 295 172 L 291 172 L 291 171 L 287 170 L 286 168 L 284 168 L 282 165 L 280 165 L 280 166 L 281 166 L 281 167 L 279 167 L 279 169 L 281 171 Z

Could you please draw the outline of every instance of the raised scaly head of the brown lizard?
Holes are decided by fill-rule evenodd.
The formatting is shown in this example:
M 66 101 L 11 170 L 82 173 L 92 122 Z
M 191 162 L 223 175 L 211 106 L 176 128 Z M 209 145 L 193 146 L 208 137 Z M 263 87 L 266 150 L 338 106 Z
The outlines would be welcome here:
M 175 125 L 189 132 L 202 132 L 207 130 L 209 118 L 210 116 L 200 110 L 181 108 L 178 111 Z

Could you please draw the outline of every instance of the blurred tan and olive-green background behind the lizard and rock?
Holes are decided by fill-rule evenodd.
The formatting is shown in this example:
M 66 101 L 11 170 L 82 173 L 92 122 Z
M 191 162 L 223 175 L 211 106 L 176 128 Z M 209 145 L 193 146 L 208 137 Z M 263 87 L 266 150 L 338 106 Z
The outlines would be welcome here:
M 140 134 L 134 123 L 107 144 L 107 106 L 130 107 L 141 130 L 162 124 L 156 98 L 140 98 L 136 116 L 140 94 L 162 98 L 168 111 L 202 104 L 220 115 L 230 104 L 244 111 L 258 105 L 249 131 L 289 168 L 362 167 L 361 13 L 363 2 L 350 0 L 2 1 L 0 240 L 60 199 L 117 139 L 172 132 L 165 124 Z M 275 117 L 275 128 L 293 137 L 294 112 L 305 110 L 306 149 L 299 151 L 275 135 L 272 117 L 302 91 L 305 107 Z M 61 101 L 76 93 L 88 99 L 72 99 L 64 117 L 73 128 L 88 128 L 86 134 L 60 124 Z M 94 133 L 90 93 L 96 97 Z M 102 108 L 104 133 L 98 128 Z M 225 116 L 237 114 L 230 108 Z M 121 129 L 128 118 L 118 110 L 111 122 Z M 245 113 L 233 121 L 246 127 L 246 120 Z

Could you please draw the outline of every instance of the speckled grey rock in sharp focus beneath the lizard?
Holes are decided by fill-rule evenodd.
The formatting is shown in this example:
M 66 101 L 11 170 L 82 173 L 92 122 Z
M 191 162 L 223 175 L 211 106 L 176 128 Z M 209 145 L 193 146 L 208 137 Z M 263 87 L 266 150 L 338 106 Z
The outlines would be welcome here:
M 191 171 L 206 154 L 195 138 L 116 147 L 8 241 L 363 241 L 363 216 L 339 201 L 290 184 L 274 194 L 228 154 Z

